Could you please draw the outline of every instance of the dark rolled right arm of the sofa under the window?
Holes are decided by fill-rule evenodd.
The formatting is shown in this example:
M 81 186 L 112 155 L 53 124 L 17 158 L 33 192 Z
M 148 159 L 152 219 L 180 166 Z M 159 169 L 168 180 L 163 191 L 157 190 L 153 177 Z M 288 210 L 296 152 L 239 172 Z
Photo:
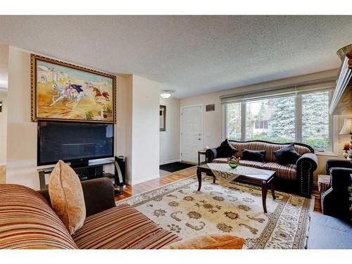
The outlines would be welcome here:
M 313 189 L 313 172 L 318 168 L 318 157 L 315 153 L 304 153 L 296 162 L 299 192 L 310 197 Z

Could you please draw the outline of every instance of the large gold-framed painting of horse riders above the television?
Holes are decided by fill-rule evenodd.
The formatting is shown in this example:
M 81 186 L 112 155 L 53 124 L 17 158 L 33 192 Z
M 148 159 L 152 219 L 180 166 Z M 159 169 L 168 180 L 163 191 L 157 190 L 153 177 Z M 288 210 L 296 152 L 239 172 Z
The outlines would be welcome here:
M 115 122 L 116 77 L 31 54 L 32 121 Z

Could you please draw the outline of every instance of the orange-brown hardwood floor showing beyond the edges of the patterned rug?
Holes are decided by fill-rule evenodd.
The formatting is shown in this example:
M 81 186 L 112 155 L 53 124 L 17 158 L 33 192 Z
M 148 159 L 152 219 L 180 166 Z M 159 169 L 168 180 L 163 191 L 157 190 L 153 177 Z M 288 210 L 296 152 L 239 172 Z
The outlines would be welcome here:
M 180 172 L 175 172 L 175 173 L 172 173 L 170 175 L 166 175 L 164 177 L 160 177 L 155 180 L 150 180 L 148 182 L 142 182 L 142 183 L 136 184 L 134 186 L 127 185 L 123 195 L 115 196 L 115 201 L 120 201 L 120 200 L 126 199 L 130 196 L 133 196 L 136 194 L 141 194 L 144 191 L 156 189 L 156 188 L 161 187 L 165 184 L 169 184 L 169 183 L 175 182 L 177 180 L 182 180 L 182 179 L 187 178 L 192 175 L 196 175 L 196 167 L 192 167 L 192 168 L 189 168 L 186 170 L 181 170 Z M 313 187 L 312 194 L 313 194 L 313 196 L 315 196 L 314 211 L 317 213 L 321 213 L 322 209 L 320 207 L 320 194 L 319 194 L 317 186 Z

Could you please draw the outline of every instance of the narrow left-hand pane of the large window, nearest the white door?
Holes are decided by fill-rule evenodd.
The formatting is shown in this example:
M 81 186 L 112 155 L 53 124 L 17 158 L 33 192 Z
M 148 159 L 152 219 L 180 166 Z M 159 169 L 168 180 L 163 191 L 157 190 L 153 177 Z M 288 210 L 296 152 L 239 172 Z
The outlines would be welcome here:
M 226 134 L 228 139 L 241 140 L 241 103 L 226 105 Z

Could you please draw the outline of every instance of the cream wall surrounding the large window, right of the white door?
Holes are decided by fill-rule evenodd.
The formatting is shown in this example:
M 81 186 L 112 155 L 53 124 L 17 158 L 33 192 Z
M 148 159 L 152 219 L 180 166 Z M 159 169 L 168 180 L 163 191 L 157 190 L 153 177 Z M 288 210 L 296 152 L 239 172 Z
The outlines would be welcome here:
M 239 87 L 235 89 L 215 92 L 211 94 L 203 94 L 201 96 L 194 96 L 187 99 L 181 99 L 180 106 L 191 106 L 196 104 L 203 104 L 203 146 L 215 147 L 219 146 L 222 141 L 222 115 L 220 96 L 232 94 L 237 92 L 246 92 L 248 90 L 255 91 L 256 89 L 270 88 L 285 84 L 292 84 L 297 82 L 306 82 L 308 80 L 317 80 L 325 77 L 336 77 L 337 70 L 327 70 L 320 73 L 313 73 L 309 75 L 302 75 L 297 77 L 286 78 L 282 80 L 275 80 L 271 82 L 264 82 L 261 84 L 253 84 L 246 87 Z M 206 104 L 215 103 L 215 111 L 206 112 Z M 334 153 L 320 154 L 318 153 L 318 170 L 315 171 L 315 180 L 318 174 L 325 174 L 325 163 L 327 158 L 341 158 L 341 151 L 344 142 L 348 142 L 348 135 L 339 135 L 339 131 L 343 125 L 343 120 L 346 116 L 334 117 Z

